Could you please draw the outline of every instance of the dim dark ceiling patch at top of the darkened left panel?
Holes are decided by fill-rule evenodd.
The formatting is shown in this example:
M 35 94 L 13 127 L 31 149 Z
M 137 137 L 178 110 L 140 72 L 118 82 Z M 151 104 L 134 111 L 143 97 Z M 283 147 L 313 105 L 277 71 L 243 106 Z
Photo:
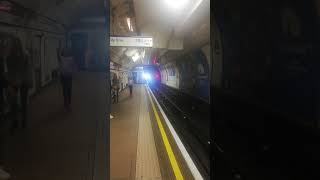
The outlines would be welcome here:
M 104 16 L 102 0 L 14 0 L 72 29 L 83 17 Z

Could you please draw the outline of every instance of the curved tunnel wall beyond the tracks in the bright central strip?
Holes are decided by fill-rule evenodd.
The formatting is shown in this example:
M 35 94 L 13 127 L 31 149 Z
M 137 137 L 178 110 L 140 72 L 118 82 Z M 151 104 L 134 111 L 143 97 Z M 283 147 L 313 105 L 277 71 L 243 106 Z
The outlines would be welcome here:
M 210 101 L 210 46 L 206 45 L 160 66 L 161 82 Z

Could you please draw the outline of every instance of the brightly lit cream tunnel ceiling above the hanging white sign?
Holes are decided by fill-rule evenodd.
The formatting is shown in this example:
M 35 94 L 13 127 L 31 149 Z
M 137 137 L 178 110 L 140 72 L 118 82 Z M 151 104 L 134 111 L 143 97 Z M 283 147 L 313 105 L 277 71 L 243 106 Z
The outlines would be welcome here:
M 155 54 L 168 50 L 192 49 L 210 40 L 210 0 L 185 0 L 184 8 L 175 9 L 169 0 L 111 0 L 110 34 L 152 36 L 152 49 L 111 47 L 111 60 L 125 67 L 148 63 Z M 183 0 L 176 0 L 183 1 Z M 174 1 L 173 1 L 174 2 Z M 127 18 L 133 26 L 131 31 Z M 143 60 L 132 61 L 128 53 L 145 52 Z M 128 56 L 129 54 L 129 56 Z M 142 59 L 142 58 L 141 58 Z

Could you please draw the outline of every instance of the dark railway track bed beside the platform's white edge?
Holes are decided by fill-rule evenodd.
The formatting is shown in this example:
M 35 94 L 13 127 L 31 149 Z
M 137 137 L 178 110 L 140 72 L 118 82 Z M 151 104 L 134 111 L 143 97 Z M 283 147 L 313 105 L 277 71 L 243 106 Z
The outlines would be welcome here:
M 150 86 L 161 107 L 178 132 L 192 159 L 205 179 L 210 175 L 210 116 L 188 95 L 169 89 L 163 85 Z M 199 111 L 200 109 L 200 111 Z

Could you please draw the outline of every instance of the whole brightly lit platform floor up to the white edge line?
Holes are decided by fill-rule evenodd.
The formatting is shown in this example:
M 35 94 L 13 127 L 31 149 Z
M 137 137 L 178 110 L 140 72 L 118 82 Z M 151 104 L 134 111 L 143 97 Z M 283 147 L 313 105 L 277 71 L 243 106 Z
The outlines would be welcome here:
M 136 84 L 132 97 L 129 90 L 124 90 L 119 102 L 112 104 L 111 180 L 194 179 L 157 105 L 153 100 L 152 105 L 151 100 L 145 85 Z M 159 122 L 162 123 L 162 129 Z M 166 134 L 167 141 L 164 140 L 163 133 Z M 168 150 L 168 146 L 171 150 Z M 173 167 L 172 161 L 178 167 Z M 180 177 L 177 176 L 178 171 L 181 173 Z

